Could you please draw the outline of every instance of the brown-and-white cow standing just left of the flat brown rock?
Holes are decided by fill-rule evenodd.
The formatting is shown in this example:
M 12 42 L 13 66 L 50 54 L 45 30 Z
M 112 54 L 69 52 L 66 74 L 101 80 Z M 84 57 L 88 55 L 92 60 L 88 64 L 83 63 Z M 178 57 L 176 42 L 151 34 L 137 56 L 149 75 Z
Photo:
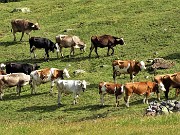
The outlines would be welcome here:
M 116 76 L 121 74 L 130 74 L 130 80 L 134 81 L 134 77 L 139 71 L 146 69 L 143 61 L 136 60 L 114 60 L 112 62 L 113 67 L 113 79 L 116 82 Z

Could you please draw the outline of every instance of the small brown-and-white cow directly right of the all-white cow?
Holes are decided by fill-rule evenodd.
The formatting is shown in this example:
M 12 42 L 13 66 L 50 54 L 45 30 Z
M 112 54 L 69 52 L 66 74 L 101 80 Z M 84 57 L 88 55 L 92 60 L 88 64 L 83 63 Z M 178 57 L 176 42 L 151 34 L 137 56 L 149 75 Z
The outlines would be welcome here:
M 113 94 L 116 97 L 116 107 L 119 106 L 118 99 L 123 95 L 123 85 L 110 82 L 100 82 L 99 83 L 99 94 L 101 104 L 104 105 L 104 96 L 105 94 Z

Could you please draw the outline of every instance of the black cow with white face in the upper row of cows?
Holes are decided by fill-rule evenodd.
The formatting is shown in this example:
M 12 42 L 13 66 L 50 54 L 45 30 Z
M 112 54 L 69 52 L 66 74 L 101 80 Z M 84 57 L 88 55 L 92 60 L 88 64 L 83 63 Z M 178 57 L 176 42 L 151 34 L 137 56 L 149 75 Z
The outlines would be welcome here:
M 30 55 L 33 53 L 34 58 L 36 58 L 36 54 L 34 53 L 35 49 L 45 49 L 45 59 L 47 61 L 49 60 L 49 51 L 52 51 L 54 53 L 54 49 L 58 52 L 58 47 L 56 44 L 54 44 L 50 39 L 47 38 L 41 38 L 41 37 L 31 37 L 29 39 L 30 44 Z M 32 58 L 32 56 L 31 56 Z

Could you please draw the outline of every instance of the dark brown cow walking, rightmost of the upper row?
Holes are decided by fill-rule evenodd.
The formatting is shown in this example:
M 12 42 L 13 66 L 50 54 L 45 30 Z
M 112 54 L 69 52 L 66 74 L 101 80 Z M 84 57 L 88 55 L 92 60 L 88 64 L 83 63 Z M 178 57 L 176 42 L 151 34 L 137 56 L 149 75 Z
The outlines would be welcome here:
M 95 53 L 96 53 L 97 57 L 99 57 L 98 52 L 97 52 L 98 47 L 100 47 L 100 48 L 107 47 L 108 48 L 107 56 L 109 56 L 109 50 L 111 49 L 112 50 L 111 55 L 113 55 L 114 54 L 113 47 L 118 44 L 124 45 L 125 44 L 124 39 L 114 37 L 111 35 L 92 36 L 89 57 L 91 57 L 91 53 L 94 48 L 95 48 Z

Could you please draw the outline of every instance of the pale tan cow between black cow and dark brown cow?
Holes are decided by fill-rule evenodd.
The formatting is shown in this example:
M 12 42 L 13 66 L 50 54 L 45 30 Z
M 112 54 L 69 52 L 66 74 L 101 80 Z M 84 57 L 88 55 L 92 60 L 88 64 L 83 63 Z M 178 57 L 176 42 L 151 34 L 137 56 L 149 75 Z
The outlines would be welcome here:
M 69 57 L 71 57 L 72 54 L 74 55 L 75 48 L 80 48 L 81 51 L 85 52 L 86 44 L 81 41 L 78 36 L 58 35 L 55 39 L 56 44 L 60 47 L 61 57 L 63 57 L 63 48 L 71 48 Z

